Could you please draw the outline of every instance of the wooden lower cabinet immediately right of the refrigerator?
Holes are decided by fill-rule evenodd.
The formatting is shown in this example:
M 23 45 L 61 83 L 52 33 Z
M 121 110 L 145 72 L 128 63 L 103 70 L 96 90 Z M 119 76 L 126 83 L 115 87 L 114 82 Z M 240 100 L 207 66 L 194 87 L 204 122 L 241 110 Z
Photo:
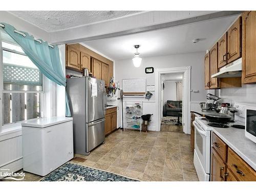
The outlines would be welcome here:
M 106 110 L 105 115 L 105 135 L 117 129 L 117 108 Z

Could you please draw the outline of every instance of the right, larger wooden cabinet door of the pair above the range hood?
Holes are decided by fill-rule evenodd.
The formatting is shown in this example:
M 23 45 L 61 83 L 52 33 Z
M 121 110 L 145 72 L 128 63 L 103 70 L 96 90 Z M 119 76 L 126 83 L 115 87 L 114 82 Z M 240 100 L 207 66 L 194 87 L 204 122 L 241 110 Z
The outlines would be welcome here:
M 241 17 L 227 31 L 227 62 L 232 62 L 242 56 Z

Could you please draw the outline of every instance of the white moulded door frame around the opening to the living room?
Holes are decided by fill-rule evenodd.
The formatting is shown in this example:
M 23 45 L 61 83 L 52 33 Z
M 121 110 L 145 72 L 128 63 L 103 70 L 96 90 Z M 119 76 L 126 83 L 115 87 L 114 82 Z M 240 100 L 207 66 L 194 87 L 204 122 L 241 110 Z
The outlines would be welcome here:
M 161 94 L 163 89 L 164 83 L 162 75 L 164 74 L 182 74 L 182 104 L 177 105 L 181 109 L 179 112 L 179 117 L 181 119 L 181 126 L 182 131 L 185 134 L 190 134 L 190 73 L 191 67 L 178 67 L 178 68 L 163 68 L 163 69 L 156 69 L 155 81 L 156 81 L 156 111 L 158 112 L 157 115 L 157 122 L 158 122 L 158 131 L 161 131 L 161 123 L 163 117 L 163 105 L 164 103 L 164 96 Z M 177 97 L 177 95 L 176 95 Z M 172 105 L 172 104 L 171 104 Z M 175 117 L 175 121 L 178 121 L 178 115 Z

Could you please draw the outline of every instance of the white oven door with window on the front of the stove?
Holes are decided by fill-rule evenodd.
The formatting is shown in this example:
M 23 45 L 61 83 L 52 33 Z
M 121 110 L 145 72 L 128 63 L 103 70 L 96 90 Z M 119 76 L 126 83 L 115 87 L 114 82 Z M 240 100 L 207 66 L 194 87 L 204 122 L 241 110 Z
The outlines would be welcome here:
M 200 167 L 205 174 L 210 174 L 210 131 L 205 131 L 199 123 L 193 122 L 195 126 L 195 153 L 200 161 Z M 199 162 L 196 162 L 199 164 Z

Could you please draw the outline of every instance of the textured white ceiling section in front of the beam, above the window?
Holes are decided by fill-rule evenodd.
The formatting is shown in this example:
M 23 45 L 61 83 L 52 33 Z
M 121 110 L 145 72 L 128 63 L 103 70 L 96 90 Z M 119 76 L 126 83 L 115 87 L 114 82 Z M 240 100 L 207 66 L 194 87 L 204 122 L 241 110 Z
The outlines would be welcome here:
M 140 11 L 10 11 L 10 13 L 48 32 L 102 22 L 138 12 Z M 51 24 L 48 18 L 58 19 L 60 25 Z

